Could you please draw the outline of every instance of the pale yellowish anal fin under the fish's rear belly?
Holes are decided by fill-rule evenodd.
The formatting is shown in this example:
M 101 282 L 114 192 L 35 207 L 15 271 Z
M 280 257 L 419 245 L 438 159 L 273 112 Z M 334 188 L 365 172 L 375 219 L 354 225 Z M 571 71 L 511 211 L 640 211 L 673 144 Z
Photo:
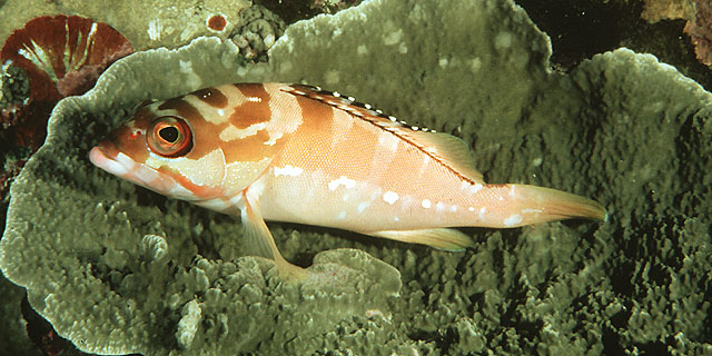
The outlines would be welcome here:
M 467 247 L 472 247 L 473 243 L 469 236 L 448 228 L 419 229 L 419 230 L 390 230 L 362 233 L 368 236 L 389 238 L 409 244 L 423 244 L 437 249 L 448 251 L 461 251 Z

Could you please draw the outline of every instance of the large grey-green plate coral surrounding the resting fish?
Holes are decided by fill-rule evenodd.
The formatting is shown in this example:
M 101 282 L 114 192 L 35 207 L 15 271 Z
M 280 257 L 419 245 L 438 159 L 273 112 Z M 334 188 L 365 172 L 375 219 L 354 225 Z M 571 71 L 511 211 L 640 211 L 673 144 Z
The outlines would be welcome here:
M 548 39 L 493 0 L 369 1 L 293 24 L 269 56 L 240 67 L 219 39 L 136 53 L 55 110 L 48 144 L 12 186 L 0 267 L 79 348 L 712 352 L 712 96 L 674 68 L 621 49 L 551 72 Z M 290 285 L 240 255 L 235 219 L 86 159 L 145 99 L 270 80 L 336 89 L 453 132 L 488 181 L 590 196 L 610 221 L 465 229 L 479 243 L 456 254 L 270 224 L 285 256 L 320 276 Z

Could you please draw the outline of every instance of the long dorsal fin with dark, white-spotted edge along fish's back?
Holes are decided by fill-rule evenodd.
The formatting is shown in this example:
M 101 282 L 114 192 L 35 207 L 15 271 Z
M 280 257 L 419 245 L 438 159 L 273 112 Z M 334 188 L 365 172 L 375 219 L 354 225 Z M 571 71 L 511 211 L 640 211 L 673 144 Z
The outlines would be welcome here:
M 336 91 L 326 91 L 318 87 L 304 85 L 291 85 L 284 90 L 295 96 L 318 100 L 358 117 L 415 146 L 471 184 L 484 184 L 482 174 L 473 166 L 472 155 L 467 145 L 457 137 L 438 134 L 426 128 L 408 126 L 405 121 L 399 121 L 393 116 L 373 109 L 368 103 L 358 102 L 353 97 L 345 97 Z

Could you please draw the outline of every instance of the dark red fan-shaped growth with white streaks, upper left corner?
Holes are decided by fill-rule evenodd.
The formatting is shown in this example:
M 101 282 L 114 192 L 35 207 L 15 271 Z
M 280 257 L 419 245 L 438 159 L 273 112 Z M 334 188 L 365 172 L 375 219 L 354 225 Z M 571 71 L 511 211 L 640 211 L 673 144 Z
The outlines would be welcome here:
M 106 23 L 63 14 L 30 20 L 0 51 L 0 63 L 24 70 L 30 95 L 24 107 L 13 108 L 11 118 L 3 111 L 0 123 L 12 126 L 17 145 L 39 147 L 55 103 L 89 90 L 111 62 L 132 51 L 129 41 Z

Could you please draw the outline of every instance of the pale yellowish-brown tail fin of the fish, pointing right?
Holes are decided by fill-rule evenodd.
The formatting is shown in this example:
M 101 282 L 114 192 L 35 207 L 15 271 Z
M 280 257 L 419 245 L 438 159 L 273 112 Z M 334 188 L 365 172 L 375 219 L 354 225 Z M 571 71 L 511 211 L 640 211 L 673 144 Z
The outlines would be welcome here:
M 537 222 L 587 218 L 607 221 L 605 208 L 596 201 L 570 192 L 527 185 L 504 185 L 510 201 L 492 227 L 517 227 Z M 501 222 L 501 225 L 500 225 Z

